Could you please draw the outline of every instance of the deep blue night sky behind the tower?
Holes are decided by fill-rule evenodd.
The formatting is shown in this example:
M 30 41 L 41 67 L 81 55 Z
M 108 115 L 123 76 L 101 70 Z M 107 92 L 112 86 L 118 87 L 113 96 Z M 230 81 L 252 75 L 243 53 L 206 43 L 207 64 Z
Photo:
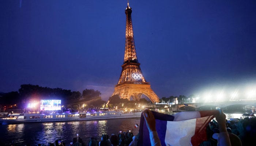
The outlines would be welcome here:
M 256 91 L 255 0 L 130 0 L 143 75 L 161 97 Z M 95 89 L 121 73 L 126 0 L 1 0 L 0 92 Z M 256 96 L 256 95 L 255 95 Z

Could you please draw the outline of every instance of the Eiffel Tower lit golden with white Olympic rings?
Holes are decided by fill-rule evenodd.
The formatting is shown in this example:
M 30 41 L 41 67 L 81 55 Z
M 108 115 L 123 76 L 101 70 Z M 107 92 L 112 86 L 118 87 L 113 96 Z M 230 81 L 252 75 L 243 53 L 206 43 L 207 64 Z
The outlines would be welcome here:
M 140 69 L 138 62 L 132 29 L 132 8 L 129 7 L 129 1 L 125 9 L 126 14 L 126 32 L 125 32 L 125 51 L 124 63 L 118 84 L 114 88 L 113 95 L 120 98 L 140 100 L 142 94 L 146 95 L 153 103 L 159 102 L 158 96 L 151 89 Z

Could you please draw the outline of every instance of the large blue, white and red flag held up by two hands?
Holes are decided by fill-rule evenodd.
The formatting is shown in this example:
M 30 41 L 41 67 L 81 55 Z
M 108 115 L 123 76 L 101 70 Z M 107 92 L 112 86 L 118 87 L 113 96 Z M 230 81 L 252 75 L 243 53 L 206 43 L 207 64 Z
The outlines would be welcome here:
M 219 113 L 217 110 L 178 112 L 174 115 L 152 112 L 162 146 L 198 146 L 207 141 L 206 127 Z M 150 145 L 146 121 L 141 115 L 138 146 Z

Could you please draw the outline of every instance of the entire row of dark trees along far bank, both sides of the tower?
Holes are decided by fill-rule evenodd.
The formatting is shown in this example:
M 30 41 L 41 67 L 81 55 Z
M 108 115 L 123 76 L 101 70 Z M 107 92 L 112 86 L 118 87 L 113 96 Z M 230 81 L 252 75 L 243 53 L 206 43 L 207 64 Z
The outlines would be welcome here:
M 150 101 L 142 98 L 139 101 L 129 101 L 128 99 L 120 99 L 118 95 L 109 97 L 108 101 L 101 99 L 101 92 L 94 89 L 84 89 L 83 92 L 71 91 L 62 88 L 41 87 L 39 85 L 23 84 L 20 85 L 18 91 L 8 93 L 0 92 L 0 108 L 3 110 L 4 106 L 16 105 L 16 108 L 24 108 L 26 103 L 30 100 L 40 101 L 41 99 L 60 99 L 61 104 L 66 108 L 74 107 L 80 104 L 86 105 L 87 108 L 93 107 L 109 107 L 109 108 L 136 108 L 140 104 L 147 104 Z M 189 97 L 192 97 L 189 96 Z M 160 102 L 173 102 L 175 99 L 179 101 L 188 100 L 184 95 L 162 97 Z M 107 105 L 108 104 L 108 105 Z

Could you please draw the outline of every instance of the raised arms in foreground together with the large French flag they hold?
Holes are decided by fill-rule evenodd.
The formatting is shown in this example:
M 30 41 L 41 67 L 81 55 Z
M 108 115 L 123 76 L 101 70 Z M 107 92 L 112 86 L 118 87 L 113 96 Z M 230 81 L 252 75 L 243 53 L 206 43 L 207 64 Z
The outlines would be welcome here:
M 224 122 L 219 144 L 230 146 L 227 131 L 224 130 L 226 115 L 218 110 L 180 112 L 175 115 L 145 110 L 140 119 L 138 146 L 198 146 L 207 140 L 206 127 L 214 117 L 217 122 Z

